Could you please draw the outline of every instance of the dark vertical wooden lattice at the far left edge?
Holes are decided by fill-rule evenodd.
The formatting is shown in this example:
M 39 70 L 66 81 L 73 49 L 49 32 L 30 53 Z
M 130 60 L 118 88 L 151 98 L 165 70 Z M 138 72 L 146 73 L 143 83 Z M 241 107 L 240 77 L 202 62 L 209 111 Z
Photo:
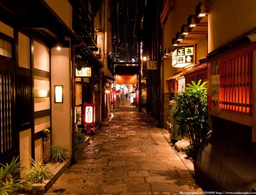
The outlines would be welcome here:
M 5 154 L 13 149 L 13 73 L 1 71 L 0 102 L 0 154 Z

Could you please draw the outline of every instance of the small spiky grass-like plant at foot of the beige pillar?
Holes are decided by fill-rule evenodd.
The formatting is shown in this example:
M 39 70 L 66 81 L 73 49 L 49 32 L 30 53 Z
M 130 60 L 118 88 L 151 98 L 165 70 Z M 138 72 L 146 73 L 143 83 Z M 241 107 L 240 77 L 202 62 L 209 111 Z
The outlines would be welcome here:
M 54 163 L 62 163 L 67 161 L 68 149 L 64 146 L 51 146 L 51 161 Z

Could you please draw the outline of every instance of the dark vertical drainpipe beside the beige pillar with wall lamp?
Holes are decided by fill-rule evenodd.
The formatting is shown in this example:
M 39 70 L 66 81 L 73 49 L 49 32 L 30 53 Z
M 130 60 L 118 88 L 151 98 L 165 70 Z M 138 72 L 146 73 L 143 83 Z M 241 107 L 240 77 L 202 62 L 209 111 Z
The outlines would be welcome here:
M 74 132 L 75 132 L 75 123 L 74 123 L 74 106 L 75 106 L 75 59 L 74 59 L 74 50 L 75 47 L 79 47 L 83 44 L 78 44 L 78 45 L 72 45 L 71 49 L 71 60 L 72 60 L 72 84 L 71 84 L 71 112 L 72 112 L 72 156 L 71 156 L 71 163 L 75 163 L 75 145 L 74 145 Z

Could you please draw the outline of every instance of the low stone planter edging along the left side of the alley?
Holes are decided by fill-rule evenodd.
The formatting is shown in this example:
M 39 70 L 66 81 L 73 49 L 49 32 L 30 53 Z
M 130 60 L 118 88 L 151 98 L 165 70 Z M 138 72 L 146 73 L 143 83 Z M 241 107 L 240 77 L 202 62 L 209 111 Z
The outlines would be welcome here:
M 50 180 L 45 180 L 43 183 L 34 183 L 31 185 L 31 189 L 26 190 L 29 194 L 45 193 L 53 183 L 61 176 L 61 174 L 67 169 L 70 164 L 70 159 L 67 162 L 63 162 L 54 170 L 53 177 Z

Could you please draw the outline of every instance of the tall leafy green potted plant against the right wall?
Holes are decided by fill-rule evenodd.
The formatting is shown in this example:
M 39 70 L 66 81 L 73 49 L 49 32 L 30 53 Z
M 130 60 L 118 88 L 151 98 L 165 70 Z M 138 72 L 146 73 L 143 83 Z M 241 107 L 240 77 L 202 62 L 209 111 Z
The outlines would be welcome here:
M 199 80 L 197 84 L 192 81 L 192 84 L 187 84 L 185 91 L 177 95 L 178 105 L 173 116 L 181 127 L 186 126 L 193 159 L 196 159 L 201 142 L 209 131 L 207 88 L 205 87 L 207 82 L 201 84 L 201 81 Z

